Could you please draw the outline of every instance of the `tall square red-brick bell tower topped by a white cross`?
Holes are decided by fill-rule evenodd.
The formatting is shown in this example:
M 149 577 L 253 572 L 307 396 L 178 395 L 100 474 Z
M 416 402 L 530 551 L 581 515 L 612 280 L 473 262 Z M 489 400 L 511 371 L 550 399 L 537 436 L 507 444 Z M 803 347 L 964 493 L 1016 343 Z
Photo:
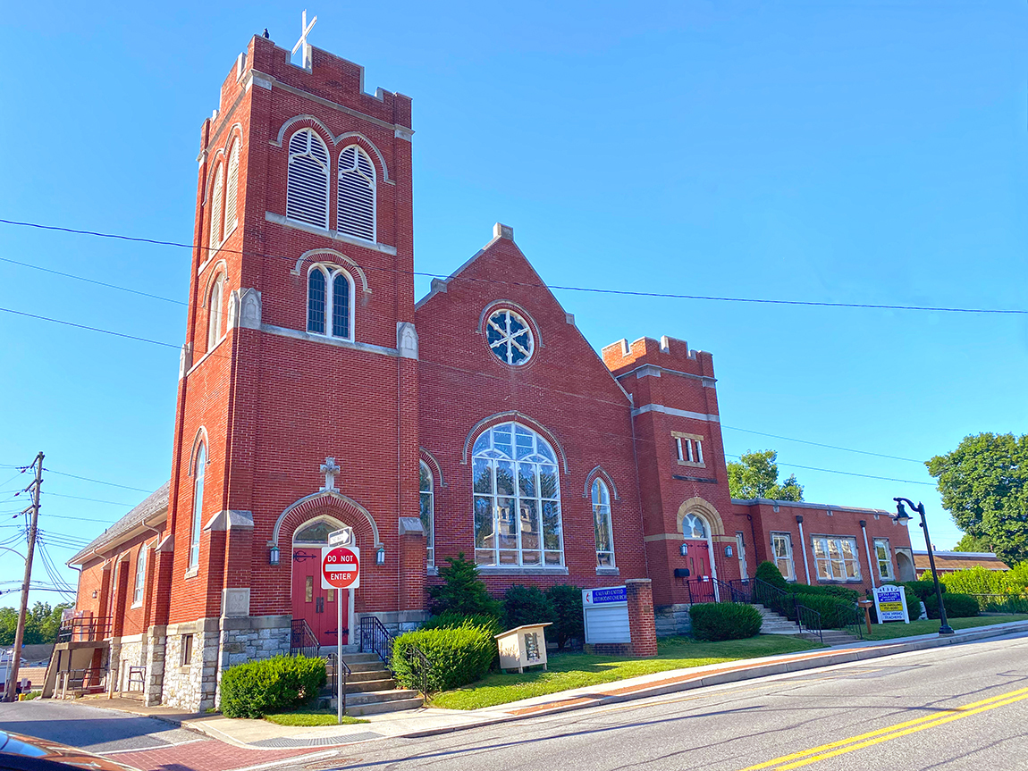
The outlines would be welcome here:
M 353 527 L 370 557 L 350 626 L 326 632 L 424 604 L 424 546 L 417 564 L 399 535 L 418 512 L 411 102 L 366 93 L 363 68 L 306 42 L 313 26 L 299 64 L 251 39 L 200 131 L 174 559 L 154 621 L 169 640 L 200 624 L 192 645 L 226 665 L 229 638 L 288 638 L 293 537 L 315 520 Z

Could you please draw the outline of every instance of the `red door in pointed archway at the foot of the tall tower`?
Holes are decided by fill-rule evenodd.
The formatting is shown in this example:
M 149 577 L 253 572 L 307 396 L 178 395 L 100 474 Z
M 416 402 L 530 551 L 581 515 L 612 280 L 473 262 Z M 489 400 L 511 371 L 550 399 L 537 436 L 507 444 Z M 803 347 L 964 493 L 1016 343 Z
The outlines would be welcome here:
M 350 612 L 353 590 L 323 589 L 321 550 L 328 546 L 328 536 L 342 527 L 338 520 L 322 516 L 304 522 L 293 535 L 292 607 L 293 620 L 302 619 L 322 646 L 342 645 L 350 639 Z M 339 603 L 342 603 L 342 627 L 339 627 Z

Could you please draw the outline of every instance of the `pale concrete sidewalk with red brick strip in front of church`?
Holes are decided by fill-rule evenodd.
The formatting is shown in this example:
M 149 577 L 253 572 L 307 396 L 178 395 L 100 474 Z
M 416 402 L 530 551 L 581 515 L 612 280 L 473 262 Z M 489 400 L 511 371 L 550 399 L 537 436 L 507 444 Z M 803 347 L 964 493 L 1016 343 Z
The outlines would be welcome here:
M 366 718 L 368 723 L 351 726 L 298 728 L 279 726 L 267 721 L 233 720 L 223 718 L 220 714 L 175 714 L 174 710 L 170 709 L 162 710 L 159 707 L 151 709 L 138 704 L 123 703 L 128 700 L 120 700 L 119 703 L 90 700 L 89 703 L 93 706 L 107 706 L 167 720 L 183 728 L 249 749 L 281 750 L 298 747 L 325 747 L 382 738 L 433 736 L 479 726 L 524 720 L 525 718 L 556 714 L 573 709 L 645 699 L 651 696 L 663 696 L 696 688 L 815 669 L 834 664 L 875 659 L 911 651 L 923 651 L 1026 631 L 1028 631 L 1028 621 L 1016 621 L 974 629 L 961 629 L 952 637 L 924 634 L 880 642 L 871 641 L 805 651 L 784 656 L 709 664 L 689 669 L 670 669 L 601 686 L 561 691 L 485 709 L 462 711 L 423 708 L 408 712 L 368 715 Z

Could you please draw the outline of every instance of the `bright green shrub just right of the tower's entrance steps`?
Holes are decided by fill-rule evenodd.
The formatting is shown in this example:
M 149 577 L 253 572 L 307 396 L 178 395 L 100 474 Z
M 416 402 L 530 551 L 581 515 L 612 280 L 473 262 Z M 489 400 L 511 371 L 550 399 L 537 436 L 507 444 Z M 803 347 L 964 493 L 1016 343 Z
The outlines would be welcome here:
M 430 691 L 447 691 L 484 677 L 497 658 L 492 629 L 461 626 L 454 629 L 417 629 L 393 641 L 393 676 L 404 688 L 418 688 L 410 667 L 409 650 L 417 647 L 432 663 Z

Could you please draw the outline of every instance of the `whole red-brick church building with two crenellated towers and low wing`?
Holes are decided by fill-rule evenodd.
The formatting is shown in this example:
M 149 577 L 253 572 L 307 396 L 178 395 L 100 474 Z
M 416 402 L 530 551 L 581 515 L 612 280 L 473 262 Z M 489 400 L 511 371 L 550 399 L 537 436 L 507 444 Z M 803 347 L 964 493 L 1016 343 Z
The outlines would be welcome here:
M 642 580 L 670 631 L 765 559 L 855 587 L 912 571 L 887 512 L 733 501 L 710 354 L 597 355 L 511 227 L 415 302 L 411 100 L 302 52 L 254 37 L 204 121 L 171 479 L 70 560 L 76 614 L 111 619 L 95 663 L 204 709 L 294 621 L 323 645 L 368 615 L 412 628 L 461 552 L 498 595 Z M 361 586 L 326 591 L 340 527 Z

